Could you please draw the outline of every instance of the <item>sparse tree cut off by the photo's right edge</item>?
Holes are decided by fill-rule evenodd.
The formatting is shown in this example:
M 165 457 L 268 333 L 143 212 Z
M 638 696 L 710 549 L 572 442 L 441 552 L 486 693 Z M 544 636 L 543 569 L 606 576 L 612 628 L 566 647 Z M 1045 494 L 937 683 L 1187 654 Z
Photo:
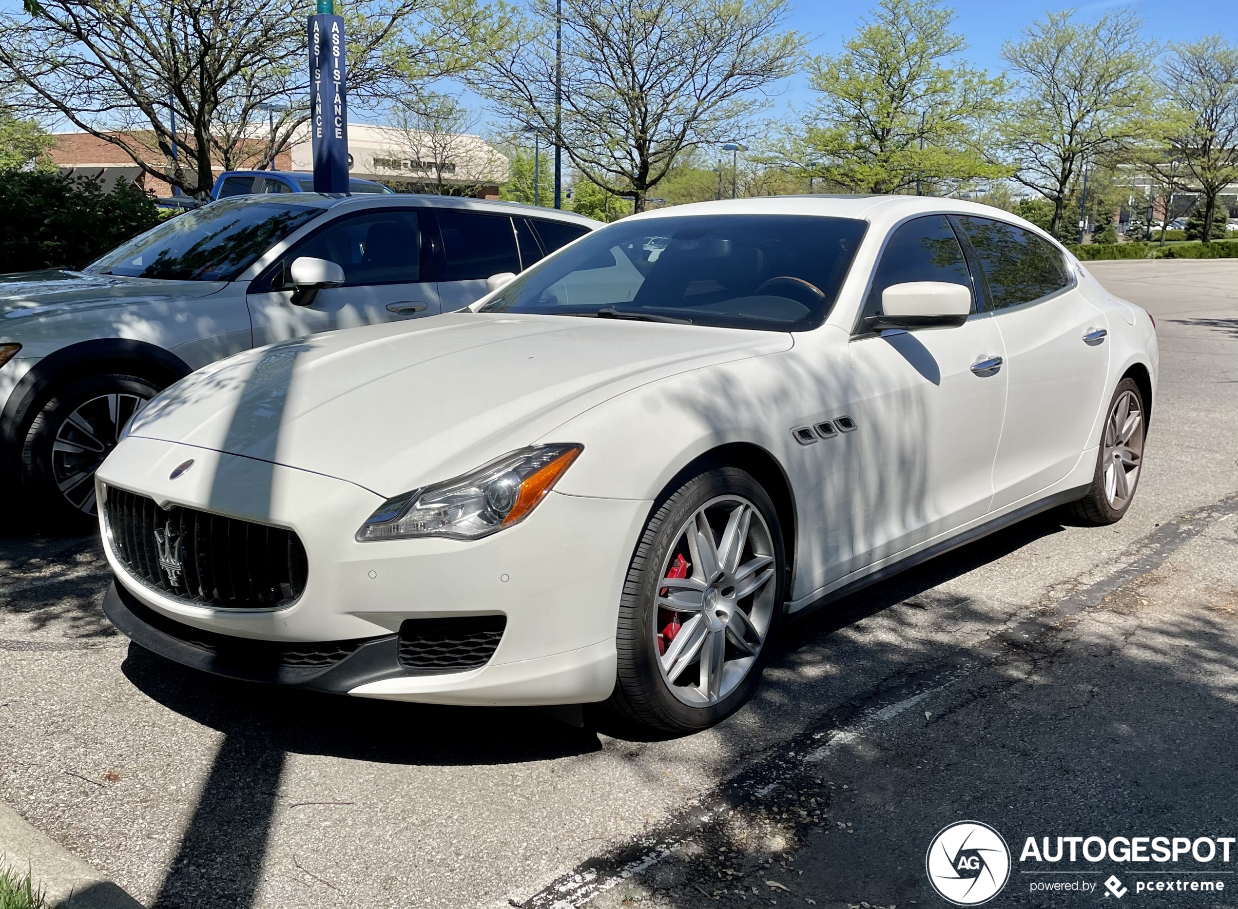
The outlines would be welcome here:
M 1171 108 L 1158 136 L 1164 151 L 1144 163 L 1160 182 L 1179 185 L 1182 175 L 1177 171 L 1185 166 L 1192 188 L 1203 198 L 1207 243 L 1217 197 L 1238 181 L 1238 47 L 1219 35 L 1175 45 L 1161 73 Z

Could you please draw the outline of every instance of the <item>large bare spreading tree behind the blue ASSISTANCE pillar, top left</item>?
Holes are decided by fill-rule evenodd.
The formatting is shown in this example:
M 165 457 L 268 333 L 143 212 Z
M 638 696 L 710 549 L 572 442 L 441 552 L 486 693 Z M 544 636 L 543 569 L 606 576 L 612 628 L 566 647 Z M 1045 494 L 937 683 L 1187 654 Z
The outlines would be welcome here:
M 0 72 L 15 109 L 68 120 L 201 194 L 213 163 L 266 163 L 308 120 L 305 14 L 297 0 L 31 0 L 0 16 Z M 501 32 L 475 0 L 360 0 L 345 22 L 361 105 L 459 73 L 464 48 Z M 267 107 L 287 108 L 274 130 Z

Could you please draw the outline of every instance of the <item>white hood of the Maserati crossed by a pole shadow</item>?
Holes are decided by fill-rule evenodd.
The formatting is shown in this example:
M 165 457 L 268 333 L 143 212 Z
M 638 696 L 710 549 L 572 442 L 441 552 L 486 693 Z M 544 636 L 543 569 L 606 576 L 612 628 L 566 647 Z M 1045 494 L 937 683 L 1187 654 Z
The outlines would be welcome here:
M 390 497 L 542 438 L 638 385 L 790 348 L 790 334 L 459 312 L 248 350 L 181 380 L 131 435 Z

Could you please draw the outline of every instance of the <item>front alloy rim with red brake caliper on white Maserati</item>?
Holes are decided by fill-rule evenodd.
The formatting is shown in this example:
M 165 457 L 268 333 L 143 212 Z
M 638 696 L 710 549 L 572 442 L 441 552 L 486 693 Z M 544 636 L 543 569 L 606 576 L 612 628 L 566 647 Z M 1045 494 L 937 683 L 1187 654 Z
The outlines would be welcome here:
M 769 526 L 744 498 L 711 499 L 680 528 L 654 609 L 659 668 L 680 701 L 714 705 L 751 670 L 774 618 L 775 566 Z

